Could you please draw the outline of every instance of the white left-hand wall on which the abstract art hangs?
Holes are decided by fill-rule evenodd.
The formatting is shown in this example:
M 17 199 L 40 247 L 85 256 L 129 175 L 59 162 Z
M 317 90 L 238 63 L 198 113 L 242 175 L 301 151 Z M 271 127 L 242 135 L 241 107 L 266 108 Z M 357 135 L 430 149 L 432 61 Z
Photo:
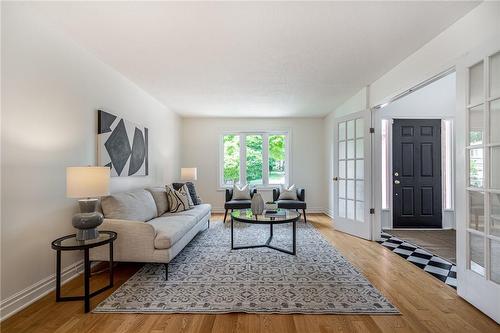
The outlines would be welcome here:
M 150 176 L 113 178 L 112 192 L 177 178 L 180 118 L 31 17 L 22 5 L 2 6 L 4 317 L 54 286 L 55 252 L 50 242 L 74 232 L 71 216 L 77 211 L 75 200 L 65 197 L 65 168 L 95 165 L 96 110 L 102 108 L 150 129 Z M 78 253 L 63 254 L 63 267 L 79 259 Z

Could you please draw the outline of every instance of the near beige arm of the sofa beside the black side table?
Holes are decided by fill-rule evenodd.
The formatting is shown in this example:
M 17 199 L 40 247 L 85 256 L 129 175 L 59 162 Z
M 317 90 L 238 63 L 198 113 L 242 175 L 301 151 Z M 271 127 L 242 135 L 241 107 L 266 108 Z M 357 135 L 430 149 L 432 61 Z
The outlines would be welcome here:
M 118 234 L 113 244 L 116 261 L 146 261 L 153 253 L 156 231 L 149 223 L 118 219 L 104 219 L 99 230 L 114 231 Z M 90 250 L 90 260 L 108 261 L 107 246 L 99 246 Z

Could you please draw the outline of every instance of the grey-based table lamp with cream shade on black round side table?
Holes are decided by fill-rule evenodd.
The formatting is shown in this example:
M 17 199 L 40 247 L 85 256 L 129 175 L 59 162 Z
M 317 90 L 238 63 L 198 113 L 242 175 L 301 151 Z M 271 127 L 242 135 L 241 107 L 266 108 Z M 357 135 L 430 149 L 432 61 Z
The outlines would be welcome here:
M 77 240 L 99 237 L 97 227 L 103 215 L 96 212 L 96 197 L 109 194 L 109 167 L 69 167 L 66 168 L 66 196 L 79 198 L 80 213 L 73 216 L 72 224 L 77 229 Z

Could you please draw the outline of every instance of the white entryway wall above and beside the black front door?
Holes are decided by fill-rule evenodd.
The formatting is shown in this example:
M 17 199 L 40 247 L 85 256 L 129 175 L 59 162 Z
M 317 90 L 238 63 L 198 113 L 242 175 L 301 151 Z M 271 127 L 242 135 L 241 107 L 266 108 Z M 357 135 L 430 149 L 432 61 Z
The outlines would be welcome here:
M 440 80 L 437 80 L 428 86 L 425 86 L 386 107 L 376 110 L 374 114 L 375 124 L 375 177 L 373 184 L 375 186 L 375 209 L 380 211 L 382 208 L 382 119 L 397 119 L 397 118 L 439 118 L 439 119 L 455 119 L 456 110 L 456 75 L 449 74 Z M 390 126 L 390 125 L 389 125 Z M 389 138 L 389 141 L 392 138 Z M 453 149 L 453 147 L 452 147 Z M 388 166 L 390 168 L 390 160 L 392 160 L 392 152 L 389 151 Z M 392 173 L 392 172 L 390 172 Z M 388 185 L 391 186 L 392 181 L 388 179 Z M 379 195 L 380 194 L 380 195 Z M 391 196 L 390 196 L 391 197 Z M 391 199 L 390 199 L 391 200 Z M 391 200 L 392 201 L 392 200 Z M 392 228 L 392 215 L 383 214 L 382 227 Z M 455 227 L 453 211 L 446 211 L 443 214 L 443 228 L 452 229 Z

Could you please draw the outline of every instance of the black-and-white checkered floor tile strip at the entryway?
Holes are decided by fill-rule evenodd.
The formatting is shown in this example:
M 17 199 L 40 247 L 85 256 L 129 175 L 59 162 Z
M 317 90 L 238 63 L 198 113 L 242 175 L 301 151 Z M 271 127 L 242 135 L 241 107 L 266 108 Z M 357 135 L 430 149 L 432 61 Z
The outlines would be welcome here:
M 379 243 L 447 285 L 457 288 L 457 267 L 452 262 L 385 232 Z

